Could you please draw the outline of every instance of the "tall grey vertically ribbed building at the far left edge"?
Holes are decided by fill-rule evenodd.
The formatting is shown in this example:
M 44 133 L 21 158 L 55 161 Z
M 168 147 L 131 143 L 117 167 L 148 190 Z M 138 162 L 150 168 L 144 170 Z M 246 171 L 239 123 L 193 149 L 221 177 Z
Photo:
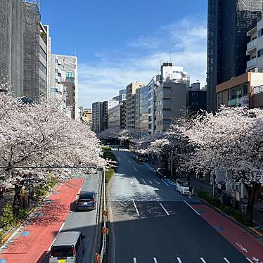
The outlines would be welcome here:
M 23 96 L 23 0 L 0 1 L 0 83 Z

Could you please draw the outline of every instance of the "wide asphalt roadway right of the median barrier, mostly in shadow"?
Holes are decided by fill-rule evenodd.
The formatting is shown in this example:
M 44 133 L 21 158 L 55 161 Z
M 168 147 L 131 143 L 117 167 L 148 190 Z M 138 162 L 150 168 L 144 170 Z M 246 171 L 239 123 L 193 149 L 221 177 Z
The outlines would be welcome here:
M 207 224 L 153 168 L 139 164 L 129 152 L 115 152 L 120 167 L 110 200 L 114 242 L 110 263 L 248 263 L 248 260 Z

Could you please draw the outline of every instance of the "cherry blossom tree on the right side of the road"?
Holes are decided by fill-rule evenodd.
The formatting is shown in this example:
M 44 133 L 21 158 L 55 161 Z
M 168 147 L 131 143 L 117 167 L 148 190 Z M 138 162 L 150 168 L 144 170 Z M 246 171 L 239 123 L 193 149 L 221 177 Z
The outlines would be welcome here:
M 263 183 L 263 110 L 222 107 L 215 115 L 203 113 L 172 129 L 184 134 L 195 153 L 186 162 L 188 168 L 233 172 L 232 180 L 248 191 L 248 216 L 252 223 L 255 194 Z

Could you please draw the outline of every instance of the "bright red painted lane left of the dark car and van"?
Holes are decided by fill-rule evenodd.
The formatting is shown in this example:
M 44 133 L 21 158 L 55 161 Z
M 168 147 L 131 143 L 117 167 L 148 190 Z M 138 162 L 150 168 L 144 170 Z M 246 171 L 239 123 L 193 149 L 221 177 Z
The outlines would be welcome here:
M 0 259 L 6 263 L 34 263 L 44 257 L 53 242 L 60 226 L 70 212 L 70 203 L 74 202 L 76 195 L 83 184 L 82 179 L 68 180 L 56 188 L 49 200 L 23 229 L 23 233 L 4 250 Z M 40 262 L 40 260 L 39 260 Z

